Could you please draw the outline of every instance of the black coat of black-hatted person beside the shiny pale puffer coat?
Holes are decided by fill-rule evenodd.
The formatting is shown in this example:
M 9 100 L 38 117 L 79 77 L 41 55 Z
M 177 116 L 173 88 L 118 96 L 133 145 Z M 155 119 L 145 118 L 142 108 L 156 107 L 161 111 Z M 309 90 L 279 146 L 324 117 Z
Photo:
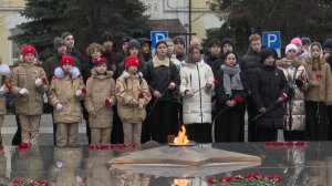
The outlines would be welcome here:
M 288 94 L 289 85 L 282 70 L 276 65 L 261 64 L 250 79 L 252 99 L 257 110 L 268 108 L 282 94 Z M 283 105 L 276 104 L 257 120 L 257 127 L 283 128 Z

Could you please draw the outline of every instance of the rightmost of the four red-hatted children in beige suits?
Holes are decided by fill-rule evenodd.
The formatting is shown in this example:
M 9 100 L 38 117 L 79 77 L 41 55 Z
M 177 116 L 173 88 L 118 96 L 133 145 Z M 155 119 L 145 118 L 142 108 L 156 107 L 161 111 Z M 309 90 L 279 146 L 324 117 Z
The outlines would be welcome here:
M 142 73 L 137 72 L 138 56 L 126 58 L 124 66 L 125 71 L 116 80 L 117 112 L 123 122 L 124 143 L 141 144 L 142 123 L 151 94 Z

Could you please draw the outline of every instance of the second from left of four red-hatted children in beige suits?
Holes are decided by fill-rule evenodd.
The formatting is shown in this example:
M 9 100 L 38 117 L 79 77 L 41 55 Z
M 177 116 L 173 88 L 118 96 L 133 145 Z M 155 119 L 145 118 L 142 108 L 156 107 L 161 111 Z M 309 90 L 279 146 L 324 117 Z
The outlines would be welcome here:
M 54 107 L 56 147 L 76 147 L 79 123 L 82 121 L 81 103 L 86 94 L 80 70 L 71 55 L 61 58 L 49 91 L 49 102 Z

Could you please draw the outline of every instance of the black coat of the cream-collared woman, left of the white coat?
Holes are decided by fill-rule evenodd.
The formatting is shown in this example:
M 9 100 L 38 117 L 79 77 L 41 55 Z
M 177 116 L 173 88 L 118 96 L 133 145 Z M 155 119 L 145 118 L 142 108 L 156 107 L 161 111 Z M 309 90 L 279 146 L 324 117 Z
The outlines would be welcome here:
M 158 91 L 160 94 L 165 93 L 160 100 L 172 101 L 174 99 L 174 91 L 179 90 L 180 75 L 176 65 L 169 62 L 169 66 L 157 66 L 154 68 L 153 60 L 148 61 L 143 69 L 143 78 L 146 80 L 151 92 Z M 166 91 L 169 83 L 175 83 L 173 91 Z

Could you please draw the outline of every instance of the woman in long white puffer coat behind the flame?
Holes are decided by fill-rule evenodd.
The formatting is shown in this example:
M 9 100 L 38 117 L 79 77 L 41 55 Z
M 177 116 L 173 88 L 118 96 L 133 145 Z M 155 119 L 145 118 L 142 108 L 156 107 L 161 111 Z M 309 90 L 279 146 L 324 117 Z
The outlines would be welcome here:
M 200 59 L 199 48 L 191 45 L 180 72 L 184 124 L 190 141 L 211 142 L 211 96 L 214 73 Z

